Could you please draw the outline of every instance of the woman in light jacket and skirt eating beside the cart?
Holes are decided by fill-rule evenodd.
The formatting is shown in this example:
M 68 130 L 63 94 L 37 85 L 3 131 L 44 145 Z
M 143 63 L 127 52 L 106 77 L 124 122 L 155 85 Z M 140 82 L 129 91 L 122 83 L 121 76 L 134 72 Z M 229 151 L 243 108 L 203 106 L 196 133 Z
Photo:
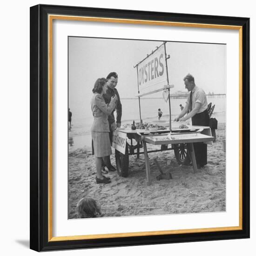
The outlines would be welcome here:
M 117 96 L 114 95 L 111 98 L 109 104 L 106 104 L 102 94 L 105 94 L 107 90 L 107 79 L 99 78 L 94 84 L 93 98 L 91 100 L 91 109 L 94 116 L 94 122 L 91 127 L 94 156 L 96 164 L 96 183 L 110 183 L 110 178 L 105 177 L 101 173 L 102 157 L 112 154 L 111 144 L 109 139 L 109 125 L 108 115 L 111 114 L 115 108 L 115 101 Z

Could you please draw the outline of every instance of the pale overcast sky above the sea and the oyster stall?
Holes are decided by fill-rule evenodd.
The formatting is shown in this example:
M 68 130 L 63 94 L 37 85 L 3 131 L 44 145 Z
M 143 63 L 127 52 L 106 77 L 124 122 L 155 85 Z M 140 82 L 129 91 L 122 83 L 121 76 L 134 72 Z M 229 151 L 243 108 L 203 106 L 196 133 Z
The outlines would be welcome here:
M 162 41 L 118 40 L 69 37 L 69 107 L 88 107 L 94 82 L 110 72 L 118 74 L 117 89 L 121 98 L 137 94 L 135 64 L 155 50 Z M 186 91 L 183 78 L 190 73 L 195 84 L 206 94 L 226 93 L 226 45 L 167 42 L 171 92 Z M 150 97 L 161 97 L 162 93 Z

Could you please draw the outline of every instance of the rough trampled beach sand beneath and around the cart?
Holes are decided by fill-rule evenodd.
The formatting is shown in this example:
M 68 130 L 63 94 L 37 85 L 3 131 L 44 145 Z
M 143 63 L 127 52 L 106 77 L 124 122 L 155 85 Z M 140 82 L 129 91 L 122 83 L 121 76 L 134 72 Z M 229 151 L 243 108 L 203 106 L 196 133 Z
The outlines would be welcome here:
M 102 216 L 143 216 L 161 214 L 220 212 L 226 210 L 226 155 L 222 149 L 225 124 L 216 130 L 216 142 L 208 145 L 208 165 L 193 173 L 192 166 L 179 165 L 173 151 L 149 153 L 152 184 L 147 186 L 144 155 L 129 156 L 129 175 L 109 172 L 109 184 L 96 184 L 91 148 L 80 148 L 68 156 L 68 217 L 78 218 L 76 204 L 92 197 L 101 205 Z M 148 145 L 148 149 L 160 146 Z M 159 170 L 153 161 L 158 156 L 164 172 L 172 180 L 156 180 Z M 168 165 L 167 160 L 171 160 Z M 115 155 L 111 155 L 115 165 Z

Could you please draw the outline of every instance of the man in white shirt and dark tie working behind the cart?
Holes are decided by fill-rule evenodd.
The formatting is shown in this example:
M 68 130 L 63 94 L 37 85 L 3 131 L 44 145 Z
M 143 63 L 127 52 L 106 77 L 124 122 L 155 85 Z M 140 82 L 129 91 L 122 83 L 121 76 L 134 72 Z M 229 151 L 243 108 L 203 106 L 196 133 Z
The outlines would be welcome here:
M 195 85 L 195 79 L 191 74 L 187 74 L 183 80 L 185 88 L 188 89 L 190 94 L 186 106 L 174 121 L 186 121 L 192 118 L 192 125 L 209 126 L 208 103 L 205 92 Z M 197 168 L 201 168 L 207 164 L 207 144 L 203 142 L 194 143 L 194 150 Z

